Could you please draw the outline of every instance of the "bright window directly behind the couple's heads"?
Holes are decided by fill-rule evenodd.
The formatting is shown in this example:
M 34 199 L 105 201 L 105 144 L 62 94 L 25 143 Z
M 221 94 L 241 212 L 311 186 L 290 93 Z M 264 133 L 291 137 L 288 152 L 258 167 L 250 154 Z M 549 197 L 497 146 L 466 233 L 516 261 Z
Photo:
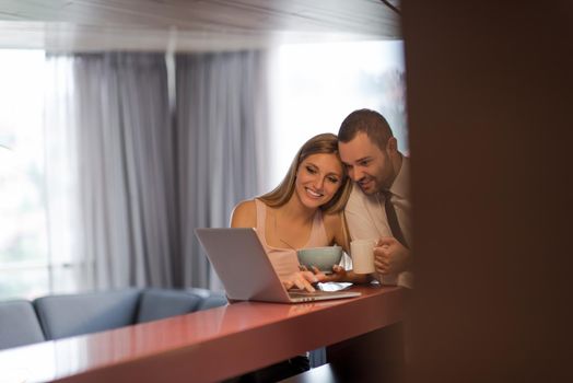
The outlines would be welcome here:
M 381 112 L 408 152 L 402 42 L 282 46 L 271 93 L 270 184 L 277 186 L 299 148 L 321 132 L 338 132 L 352 111 Z

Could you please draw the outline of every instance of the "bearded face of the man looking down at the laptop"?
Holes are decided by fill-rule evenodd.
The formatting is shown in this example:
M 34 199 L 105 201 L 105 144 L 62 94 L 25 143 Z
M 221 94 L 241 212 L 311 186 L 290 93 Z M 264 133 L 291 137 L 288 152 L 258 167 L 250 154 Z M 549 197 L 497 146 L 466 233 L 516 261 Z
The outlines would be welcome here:
M 366 134 L 359 132 L 349 142 L 338 142 L 348 174 L 367 195 L 388 189 L 396 177 L 388 149 L 381 150 Z

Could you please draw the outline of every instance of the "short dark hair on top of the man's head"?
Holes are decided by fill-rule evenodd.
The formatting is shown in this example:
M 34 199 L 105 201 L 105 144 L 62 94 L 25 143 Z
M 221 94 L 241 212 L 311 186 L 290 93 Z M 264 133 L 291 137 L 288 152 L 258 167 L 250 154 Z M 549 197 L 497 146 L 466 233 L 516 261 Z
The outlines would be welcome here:
M 359 132 L 366 134 L 369 139 L 382 150 L 386 148 L 388 139 L 394 137 L 386 118 L 371 109 L 358 109 L 349 114 L 340 125 L 338 140 L 350 142 Z

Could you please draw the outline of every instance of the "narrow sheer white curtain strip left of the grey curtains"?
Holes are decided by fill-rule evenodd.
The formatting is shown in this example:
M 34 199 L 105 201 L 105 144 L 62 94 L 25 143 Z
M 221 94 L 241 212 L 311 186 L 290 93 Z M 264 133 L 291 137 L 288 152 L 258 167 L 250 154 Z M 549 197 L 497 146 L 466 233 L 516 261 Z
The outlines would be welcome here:
M 78 271 L 83 263 L 78 257 L 81 254 L 79 158 L 72 63 L 69 57 L 49 57 L 44 77 L 44 195 L 50 292 L 80 289 Z

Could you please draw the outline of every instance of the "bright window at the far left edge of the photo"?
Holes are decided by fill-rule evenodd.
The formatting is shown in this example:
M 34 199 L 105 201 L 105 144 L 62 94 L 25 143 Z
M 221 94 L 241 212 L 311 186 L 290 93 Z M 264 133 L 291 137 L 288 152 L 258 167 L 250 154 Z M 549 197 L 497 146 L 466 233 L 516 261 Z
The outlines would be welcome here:
M 44 51 L 0 50 L 0 298 L 48 289 L 43 202 Z

